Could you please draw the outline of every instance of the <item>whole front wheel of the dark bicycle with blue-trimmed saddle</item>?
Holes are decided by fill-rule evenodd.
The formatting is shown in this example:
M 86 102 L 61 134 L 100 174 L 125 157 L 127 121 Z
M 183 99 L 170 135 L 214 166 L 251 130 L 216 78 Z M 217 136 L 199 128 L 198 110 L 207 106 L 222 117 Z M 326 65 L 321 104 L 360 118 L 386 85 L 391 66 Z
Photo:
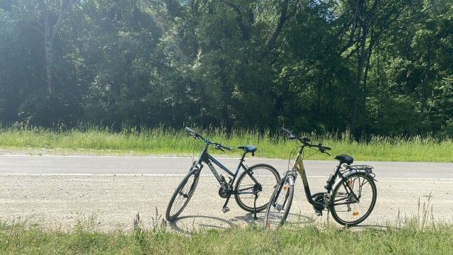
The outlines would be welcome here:
M 198 179 L 200 179 L 200 169 L 193 167 L 193 169 L 184 177 L 183 181 L 179 183 L 173 196 L 171 196 L 165 215 L 166 220 L 174 220 L 181 212 L 183 212 L 185 206 L 189 203 L 190 198 L 192 198 L 192 195 L 195 192 Z

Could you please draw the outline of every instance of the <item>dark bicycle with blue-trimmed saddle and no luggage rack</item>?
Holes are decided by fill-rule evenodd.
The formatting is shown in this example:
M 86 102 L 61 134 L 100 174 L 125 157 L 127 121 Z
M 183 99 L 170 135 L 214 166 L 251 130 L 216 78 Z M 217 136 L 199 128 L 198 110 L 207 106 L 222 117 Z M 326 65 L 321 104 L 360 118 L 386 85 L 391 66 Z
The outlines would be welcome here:
M 195 188 L 197 188 L 203 163 L 210 167 L 212 174 L 214 174 L 217 181 L 219 181 L 219 196 L 221 198 L 226 198 L 222 211 L 229 211 L 227 205 L 230 197 L 234 195 L 239 207 L 248 212 L 255 212 L 254 217 L 256 219 L 256 212 L 265 210 L 268 206 L 270 195 L 280 181 L 280 175 L 277 170 L 268 164 L 256 164 L 251 167 L 247 167 L 243 164 L 247 153 L 251 153 L 252 156 L 254 156 L 256 152 L 256 147 L 248 145 L 238 146 L 238 149 L 243 149 L 243 155 L 239 161 L 239 166 L 233 173 L 207 152 L 209 147 L 214 147 L 214 149 L 219 149 L 223 152 L 225 149 L 231 150 L 230 147 L 226 147 L 217 142 L 211 142 L 190 128 L 185 128 L 185 130 L 195 139 L 205 142 L 205 147 L 202 149 L 200 157 L 193 162 L 189 173 L 184 177 L 183 181 L 179 183 L 175 193 L 173 193 L 173 196 L 168 203 L 166 220 L 171 221 L 176 219 L 189 203 L 190 198 L 192 198 L 193 193 L 195 192 Z M 212 163 L 219 166 L 226 174 L 228 174 L 226 178 L 217 173 Z M 238 176 L 239 169 L 241 168 L 244 169 L 244 171 L 239 175 L 236 181 L 236 176 Z M 236 185 L 234 185 L 235 181 Z

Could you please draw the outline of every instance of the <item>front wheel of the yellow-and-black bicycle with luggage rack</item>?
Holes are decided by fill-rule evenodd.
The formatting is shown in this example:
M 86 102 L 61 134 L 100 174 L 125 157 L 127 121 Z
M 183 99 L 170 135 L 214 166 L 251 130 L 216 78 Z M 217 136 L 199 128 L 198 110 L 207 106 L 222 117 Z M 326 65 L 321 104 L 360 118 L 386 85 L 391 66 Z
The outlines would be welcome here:
M 289 178 L 282 179 L 275 187 L 272 197 L 266 208 L 263 227 L 275 229 L 285 223 L 294 196 L 294 186 L 289 184 Z

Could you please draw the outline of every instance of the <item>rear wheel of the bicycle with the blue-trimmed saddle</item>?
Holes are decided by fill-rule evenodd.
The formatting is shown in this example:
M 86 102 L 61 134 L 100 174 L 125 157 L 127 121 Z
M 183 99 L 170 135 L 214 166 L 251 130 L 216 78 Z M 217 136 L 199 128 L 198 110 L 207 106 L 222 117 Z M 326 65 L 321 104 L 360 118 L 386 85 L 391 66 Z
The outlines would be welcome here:
M 256 200 L 256 212 L 260 212 L 268 206 L 273 189 L 280 182 L 280 174 L 278 174 L 278 171 L 273 166 L 268 164 L 256 164 L 243 171 L 236 182 L 234 198 L 239 207 L 248 212 L 255 211 L 255 207 L 253 206 L 255 195 L 241 194 L 239 191 L 253 190 L 254 187 L 257 187 L 252 176 L 253 179 L 259 182 L 261 187 L 261 191 L 258 192 L 258 199 Z M 246 181 L 249 183 L 245 183 Z

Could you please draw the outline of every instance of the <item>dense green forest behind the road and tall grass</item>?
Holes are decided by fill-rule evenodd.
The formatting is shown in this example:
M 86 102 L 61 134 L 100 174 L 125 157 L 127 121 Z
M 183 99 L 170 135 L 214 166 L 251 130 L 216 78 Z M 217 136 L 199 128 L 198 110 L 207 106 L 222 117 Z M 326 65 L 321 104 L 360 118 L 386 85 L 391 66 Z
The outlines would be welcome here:
M 453 135 L 451 0 L 0 0 L 0 121 Z

